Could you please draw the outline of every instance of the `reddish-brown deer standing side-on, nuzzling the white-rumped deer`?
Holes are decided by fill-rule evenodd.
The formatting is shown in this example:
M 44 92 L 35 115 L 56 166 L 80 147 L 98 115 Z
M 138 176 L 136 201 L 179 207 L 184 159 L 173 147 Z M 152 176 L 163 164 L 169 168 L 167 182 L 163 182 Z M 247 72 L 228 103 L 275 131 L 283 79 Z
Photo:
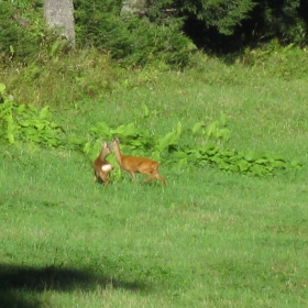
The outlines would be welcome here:
M 135 180 L 135 173 L 141 173 L 147 175 L 147 178 L 145 178 L 143 183 L 156 178 L 166 185 L 166 180 L 158 173 L 160 163 L 145 157 L 123 155 L 120 150 L 120 141 L 118 138 L 114 138 L 113 142 L 108 144 L 108 147 L 114 153 L 120 168 L 128 172 L 133 182 Z

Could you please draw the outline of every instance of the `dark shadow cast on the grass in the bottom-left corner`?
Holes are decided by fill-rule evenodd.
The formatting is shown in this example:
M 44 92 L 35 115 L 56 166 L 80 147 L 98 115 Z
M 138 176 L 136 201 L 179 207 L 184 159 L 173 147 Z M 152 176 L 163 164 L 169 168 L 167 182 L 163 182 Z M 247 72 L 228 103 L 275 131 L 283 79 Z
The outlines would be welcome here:
M 40 308 L 45 307 L 40 294 L 46 290 L 90 290 L 95 287 L 111 286 L 131 292 L 145 289 L 139 282 L 123 282 L 80 271 L 62 267 L 25 267 L 0 264 L 0 307 Z M 48 304 L 47 304 L 48 305 Z

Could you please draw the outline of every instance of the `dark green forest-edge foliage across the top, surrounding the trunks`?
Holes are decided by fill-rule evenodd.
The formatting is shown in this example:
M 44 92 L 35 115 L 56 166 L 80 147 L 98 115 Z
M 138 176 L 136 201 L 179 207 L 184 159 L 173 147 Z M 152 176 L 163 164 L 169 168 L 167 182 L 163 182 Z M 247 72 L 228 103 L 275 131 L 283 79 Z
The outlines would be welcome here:
M 75 0 L 77 47 L 96 47 L 122 66 L 189 64 L 198 46 L 222 54 L 277 40 L 307 44 L 306 1 L 146 1 L 143 18 L 121 14 L 121 0 Z M 46 63 L 69 45 L 45 28 L 43 1 L 0 1 L 0 63 Z M 37 55 L 40 55 L 37 57 Z

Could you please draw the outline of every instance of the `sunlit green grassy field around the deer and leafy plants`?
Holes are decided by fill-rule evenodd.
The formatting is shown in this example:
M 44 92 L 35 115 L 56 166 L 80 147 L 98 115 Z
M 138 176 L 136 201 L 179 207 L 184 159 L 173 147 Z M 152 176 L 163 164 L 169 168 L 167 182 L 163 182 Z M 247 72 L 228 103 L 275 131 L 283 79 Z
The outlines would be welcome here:
M 78 135 L 98 121 L 166 134 L 226 114 L 230 148 L 304 167 L 260 178 L 161 162 L 166 187 L 128 174 L 103 187 L 80 153 L 1 147 L 0 306 L 307 307 L 307 76 L 208 59 L 119 82 L 53 107 L 57 122 Z M 186 131 L 182 142 L 206 141 Z

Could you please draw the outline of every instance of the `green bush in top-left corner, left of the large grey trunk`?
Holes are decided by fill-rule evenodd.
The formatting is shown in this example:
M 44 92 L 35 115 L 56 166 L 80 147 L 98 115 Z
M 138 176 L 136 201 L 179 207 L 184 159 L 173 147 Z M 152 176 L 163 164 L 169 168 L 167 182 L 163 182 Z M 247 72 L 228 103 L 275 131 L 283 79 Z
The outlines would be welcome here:
M 0 64 L 12 61 L 29 65 L 38 57 L 66 51 L 67 42 L 48 30 L 43 19 L 43 1 L 2 1 L 0 6 Z

